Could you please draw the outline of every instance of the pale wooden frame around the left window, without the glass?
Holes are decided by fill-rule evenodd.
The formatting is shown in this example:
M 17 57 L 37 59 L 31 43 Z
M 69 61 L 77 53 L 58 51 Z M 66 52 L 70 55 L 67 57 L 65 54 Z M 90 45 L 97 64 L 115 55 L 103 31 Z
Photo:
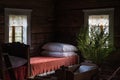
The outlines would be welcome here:
M 30 9 L 13 9 L 5 8 L 5 42 L 9 42 L 9 15 L 26 15 L 27 16 L 27 44 L 31 45 L 31 12 Z

